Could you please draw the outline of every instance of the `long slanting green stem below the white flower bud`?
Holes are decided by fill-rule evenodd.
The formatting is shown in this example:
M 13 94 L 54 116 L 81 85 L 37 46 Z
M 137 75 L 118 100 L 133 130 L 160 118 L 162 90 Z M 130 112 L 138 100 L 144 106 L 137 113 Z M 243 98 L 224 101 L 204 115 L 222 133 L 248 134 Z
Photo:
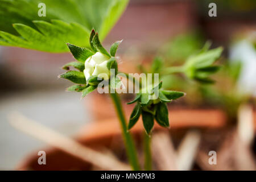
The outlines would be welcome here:
M 137 151 L 135 149 L 135 144 L 133 142 L 133 138 L 131 137 L 130 133 L 127 131 L 127 124 L 125 115 L 123 114 L 121 100 L 117 93 L 110 93 L 110 96 L 114 102 L 115 110 L 117 111 L 117 115 L 122 127 L 122 135 L 123 140 L 125 142 L 126 152 L 133 170 L 140 170 L 139 161 L 137 157 Z

